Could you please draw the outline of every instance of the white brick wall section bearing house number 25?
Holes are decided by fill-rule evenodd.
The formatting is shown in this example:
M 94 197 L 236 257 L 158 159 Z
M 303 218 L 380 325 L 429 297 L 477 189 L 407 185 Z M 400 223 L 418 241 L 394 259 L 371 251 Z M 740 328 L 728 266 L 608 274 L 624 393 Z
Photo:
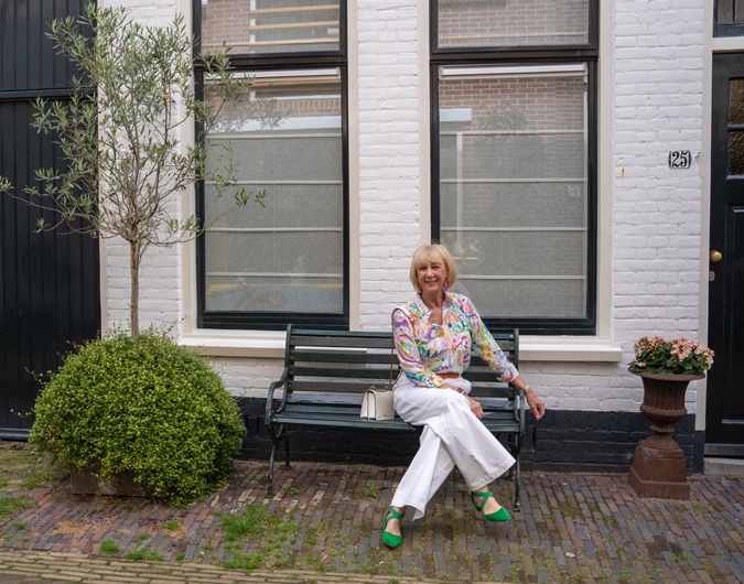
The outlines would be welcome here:
M 614 6 L 613 332 L 627 364 L 643 335 L 698 338 L 700 170 L 697 162 L 671 170 L 667 156 L 671 150 L 694 156 L 702 148 L 703 7 Z M 602 402 L 633 410 L 643 399 L 640 382 L 617 370 L 630 401 L 615 401 L 611 387 L 600 391 Z M 693 386 L 687 407 L 696 409 Z

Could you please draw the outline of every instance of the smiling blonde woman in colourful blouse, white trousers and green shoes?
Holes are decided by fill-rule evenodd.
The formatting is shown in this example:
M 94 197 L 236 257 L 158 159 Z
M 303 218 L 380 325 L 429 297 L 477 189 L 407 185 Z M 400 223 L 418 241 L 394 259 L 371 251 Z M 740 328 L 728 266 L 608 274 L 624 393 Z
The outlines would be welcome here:
M 471 499 L 489 521 L 508 521 L 488 484 L 503 475 L 515 459 L 479 422 L 481 404 L 470 398 L 467 368 L 471 344 L 502 381 L 525 390 L 537 420 L 544 404 L 507 359 L 483 324 L 473 303 L 448 292 L 457 279 L 457 267 L 446 248 L 421 246 L 411 261 L 411 283 L 417 298 L 396 309 L 393 336 L 402 375 L 393 387 L 398 415 L 423 425 L 421 445 L 392 497 L 382 522 L 382 541 L 390 548 L 402 542 L 401 521 L 407 507 L 413 519 L 423 517 L 427 504 L 456 466 Z

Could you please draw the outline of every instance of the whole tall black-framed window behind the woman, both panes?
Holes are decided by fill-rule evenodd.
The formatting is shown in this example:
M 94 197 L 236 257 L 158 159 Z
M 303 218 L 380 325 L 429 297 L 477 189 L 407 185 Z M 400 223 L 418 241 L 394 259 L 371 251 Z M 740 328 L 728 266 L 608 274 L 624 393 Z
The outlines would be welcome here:
M 432 235 L 492 326 L 595 332 L 595 0 L 432 0 Z

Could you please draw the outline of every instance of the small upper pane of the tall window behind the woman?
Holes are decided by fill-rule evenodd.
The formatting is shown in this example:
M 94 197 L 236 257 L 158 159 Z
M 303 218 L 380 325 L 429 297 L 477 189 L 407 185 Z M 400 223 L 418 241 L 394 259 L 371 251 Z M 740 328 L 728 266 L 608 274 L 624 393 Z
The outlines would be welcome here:
M 439 0 L 438 45 L 589 43 L 589 0 Z

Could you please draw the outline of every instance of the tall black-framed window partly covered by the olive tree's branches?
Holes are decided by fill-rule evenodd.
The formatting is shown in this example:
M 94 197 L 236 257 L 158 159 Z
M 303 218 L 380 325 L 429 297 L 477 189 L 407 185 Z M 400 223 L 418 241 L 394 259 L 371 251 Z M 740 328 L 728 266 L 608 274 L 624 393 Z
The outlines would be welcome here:
M 208 155 L 231 152 L 240 183 L 267 197 L 225 214 L 203 185 L 202 213 L 218 219 L 200 238 L 200 326 L 348 326 L 344 12 L 339 0 L 201 0 L 202 48 L 227 41 L 252 78 Z

